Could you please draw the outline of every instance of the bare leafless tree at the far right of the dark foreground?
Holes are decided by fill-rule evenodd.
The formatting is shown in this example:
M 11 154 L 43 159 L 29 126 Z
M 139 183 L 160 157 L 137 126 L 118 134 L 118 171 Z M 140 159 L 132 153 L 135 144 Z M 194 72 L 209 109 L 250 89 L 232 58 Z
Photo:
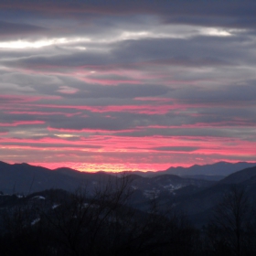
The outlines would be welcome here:
M 244 187 L 232 186 L 214 209 L 208 225 L 212 251 L 218 255 L 245 255 L 250 241 L 251 205 Z

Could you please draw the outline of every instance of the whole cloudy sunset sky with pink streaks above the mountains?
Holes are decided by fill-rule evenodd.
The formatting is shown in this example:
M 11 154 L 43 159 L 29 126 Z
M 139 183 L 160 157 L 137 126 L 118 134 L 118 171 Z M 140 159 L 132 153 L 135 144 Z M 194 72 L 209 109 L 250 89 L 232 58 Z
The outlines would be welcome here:
M 255 14 L 249 0 L 1 1 L 0 160 L 255 162 Z

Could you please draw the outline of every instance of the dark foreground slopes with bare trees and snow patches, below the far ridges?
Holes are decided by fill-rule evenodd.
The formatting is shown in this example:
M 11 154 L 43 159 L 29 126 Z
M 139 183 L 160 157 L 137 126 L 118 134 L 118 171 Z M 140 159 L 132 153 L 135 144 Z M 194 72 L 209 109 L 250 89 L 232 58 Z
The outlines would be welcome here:
M 5 171 L 9 167 L 5 165 Z M 30 173 L 33 166 L 25 165 L 22 170 Z M 23 173 L 22 170 L 19 171 Z M 38 172 L 39 177 L 52 172 L 70 180 L 82 175 L 70 169 L 42 168 Z M 254 256 L 256 253 L 256 167 L 217 183 L 173 175 L 112 176 L 99 182 L 96 177 L 104 174 L 87 175 L 84 177 L 93 185 L 91 191 L 90 186 L 85 186 L 75 192 L 50 189 L 26 196 L 0 193 L 1 253 L 49 256 Z

